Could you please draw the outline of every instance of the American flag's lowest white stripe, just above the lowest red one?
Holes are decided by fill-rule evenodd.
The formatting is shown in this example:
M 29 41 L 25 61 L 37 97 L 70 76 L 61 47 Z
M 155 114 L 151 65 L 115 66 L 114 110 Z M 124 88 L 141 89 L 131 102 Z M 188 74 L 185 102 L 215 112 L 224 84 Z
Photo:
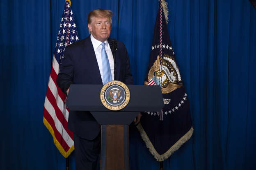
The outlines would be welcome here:
M 71 146 L 74 144 L 74 141 L 69 136 L 69 134 L 66 132 L 66 130 L 63 127 L 62 123 L 57 118 L 55 110 L 54 110 L 53 106 L 51 105 L 50 101 L 48 100 L 47 96 L 46 96 L 46 99 L 45 99 L 45 102 L 44 102 L 44 107 L 47 110 L 47 112 L 50 114 L 50 116 L 53 118 L 53 121 L 54 121 L 56 129 L 62 135 L 62 138 L 64 139 L 66 144 L 69 146 L 69 148 L 71 148 Z

